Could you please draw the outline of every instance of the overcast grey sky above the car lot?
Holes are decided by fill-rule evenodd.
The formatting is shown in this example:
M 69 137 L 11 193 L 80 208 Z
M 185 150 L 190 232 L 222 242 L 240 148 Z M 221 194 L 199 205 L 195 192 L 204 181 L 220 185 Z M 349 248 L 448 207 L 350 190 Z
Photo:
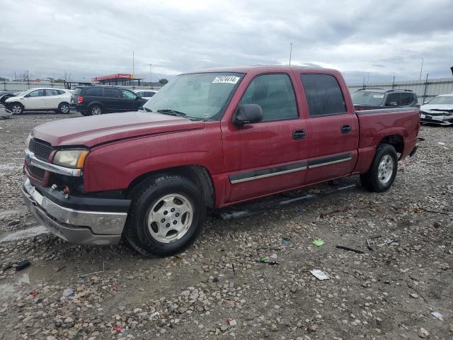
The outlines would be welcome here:
M 339 69 L 350 83 L 452 77 L 453 1 L 0 0 L 0 76 L 153 81 L 210 67 Z M 369 76 L 368 76 L 369 72 Z

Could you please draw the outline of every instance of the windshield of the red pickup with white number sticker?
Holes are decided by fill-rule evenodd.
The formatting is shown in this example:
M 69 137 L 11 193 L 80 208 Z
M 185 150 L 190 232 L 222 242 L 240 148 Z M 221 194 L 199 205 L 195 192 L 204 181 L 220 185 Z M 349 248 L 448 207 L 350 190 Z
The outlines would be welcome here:
M 243 74 L 231 72 L 182 74 L 149 99 L 144 109 L 184 114 L 187 118 L 222 118 Z

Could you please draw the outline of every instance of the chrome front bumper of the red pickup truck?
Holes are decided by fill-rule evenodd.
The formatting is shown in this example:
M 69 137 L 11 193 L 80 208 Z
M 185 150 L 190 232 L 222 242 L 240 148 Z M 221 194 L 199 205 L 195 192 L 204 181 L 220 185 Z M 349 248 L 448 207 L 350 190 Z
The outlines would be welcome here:
M 53 234 L 76 244 L 117 244 L 125 226 L 127 212 L 74 210 L 57 205 L 42 196 L 29 179 L 22 196 L 38 222 Z

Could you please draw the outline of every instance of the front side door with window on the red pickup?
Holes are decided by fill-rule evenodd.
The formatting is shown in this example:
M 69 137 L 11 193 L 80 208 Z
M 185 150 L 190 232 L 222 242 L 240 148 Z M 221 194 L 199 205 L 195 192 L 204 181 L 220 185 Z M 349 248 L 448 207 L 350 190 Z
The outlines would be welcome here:
M 302 186 L 306 123 L 299 117 L 289 74 L 261 74 L 251 80 L 239 105 L 258 104 L 263 120 L 243 126 L 222 121 L 226 202 Z

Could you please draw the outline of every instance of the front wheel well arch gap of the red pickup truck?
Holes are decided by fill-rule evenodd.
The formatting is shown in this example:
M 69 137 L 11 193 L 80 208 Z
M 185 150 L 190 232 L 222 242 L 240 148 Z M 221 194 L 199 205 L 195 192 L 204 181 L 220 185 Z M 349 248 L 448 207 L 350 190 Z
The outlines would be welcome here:
M 147 174 L 134 179 L 127 187 L 125 192 L 127 197 L 134 195 L 134 192 L 140 187 L 144 181 L 147 181 L 151 176 L 163 176 L 163 175 L 179 175 L 183 176 L 193 183 L 200 189 L 200 192 L 205 196 L 205 201 L 208 208 L 214 208 L 215 195 L 214 195 L 214 184 L 209 171 L 204 166 L 200 165 L 187 165 L 178 166 L 175 168 L 161 169 L 158 171 L 152 171 Z

